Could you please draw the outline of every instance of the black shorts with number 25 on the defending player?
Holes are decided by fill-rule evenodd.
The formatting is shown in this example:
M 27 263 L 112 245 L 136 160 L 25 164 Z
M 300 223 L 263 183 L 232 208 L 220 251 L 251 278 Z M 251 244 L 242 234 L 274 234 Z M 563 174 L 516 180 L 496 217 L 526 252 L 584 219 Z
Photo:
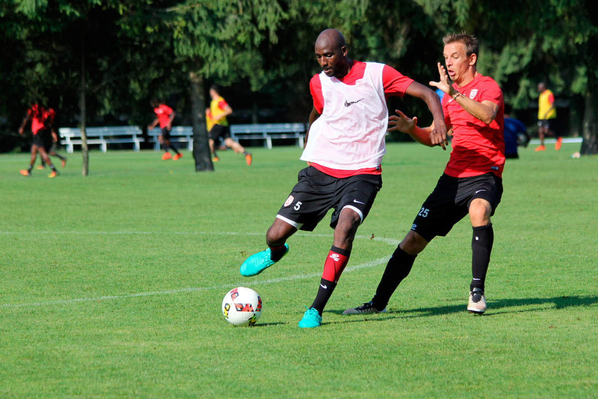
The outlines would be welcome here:
M 446 236 L 468 214 L 472 200 L 487 200 L 492 206 L 491 215 L 494 215 L 501 197 L 502 179 L 494 173 L 465 178 L 443 174 L 417 213 L 411 230 L 428 242 L 435 236 Z

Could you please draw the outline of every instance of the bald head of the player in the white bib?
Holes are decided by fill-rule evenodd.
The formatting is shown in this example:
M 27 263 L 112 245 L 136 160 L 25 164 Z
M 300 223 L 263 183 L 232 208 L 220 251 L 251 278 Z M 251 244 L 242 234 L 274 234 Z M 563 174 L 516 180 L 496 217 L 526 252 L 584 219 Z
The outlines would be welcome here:
M 336 29 L 325 29 L 318 35 L 315 45 L 316 59 L 329 77 L 342 78 L 353 62 L 347 57 L 347 44 L 343 33 Z

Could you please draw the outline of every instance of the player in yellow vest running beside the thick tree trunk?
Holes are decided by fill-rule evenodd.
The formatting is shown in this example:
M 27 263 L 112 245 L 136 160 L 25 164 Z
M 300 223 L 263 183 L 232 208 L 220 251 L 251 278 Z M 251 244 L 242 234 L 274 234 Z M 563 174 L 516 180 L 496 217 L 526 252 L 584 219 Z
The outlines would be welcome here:
M 222 139 L 224 145 L 232 148 L 237 154 L 243 153 L 247 165 L 251 165 L 251 154 L 245 151 L 242 145 L 230 138 L 230 130 L 228 129 L 228 121 L 226 117 L 233 113 L 230 105 L 218 94 L 218 86 L 212 85 L 210 87 L 210 108 L 206 109 L 206 116 L 209 114 L 210 119 L 206 118 L 206 123 L 211 123 L 212 127 L 209 130 L 210 152 L 213 154 L 212 161 L 218 160 L 216 155 L 216 143 Z

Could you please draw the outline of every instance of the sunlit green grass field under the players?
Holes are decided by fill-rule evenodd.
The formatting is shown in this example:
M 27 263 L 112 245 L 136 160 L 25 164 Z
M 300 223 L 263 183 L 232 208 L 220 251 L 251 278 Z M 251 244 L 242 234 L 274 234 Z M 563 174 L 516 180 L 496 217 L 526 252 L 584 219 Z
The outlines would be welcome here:
M 443 171 L 440 148 L 391 144 L 322 327 L 297 327 L 331 246 L 328 221 L 254 278 L 239 265 L 304 166 L 297 147 L 231 151 L 213 173 L 153 151 L 72 154 L 61 175 L 0 156 L 0 397 L 598 397 L 598 157 L 579 144 L 507 160 L 483 316 L 465 311 L 471 227 L 417 258 L 387 313 L 370 300 Z M 221 315 L 253 288 L 260 321 Z

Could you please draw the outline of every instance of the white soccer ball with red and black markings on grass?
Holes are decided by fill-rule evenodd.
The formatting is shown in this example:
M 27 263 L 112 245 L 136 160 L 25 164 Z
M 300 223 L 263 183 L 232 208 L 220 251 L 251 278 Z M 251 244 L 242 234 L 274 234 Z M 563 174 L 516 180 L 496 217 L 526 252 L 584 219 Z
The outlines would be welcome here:
M 222 314 L 230 324 L 254 325 L 261 315 L 261 298 L 251 288 L 233 288 L 222 300 Z

